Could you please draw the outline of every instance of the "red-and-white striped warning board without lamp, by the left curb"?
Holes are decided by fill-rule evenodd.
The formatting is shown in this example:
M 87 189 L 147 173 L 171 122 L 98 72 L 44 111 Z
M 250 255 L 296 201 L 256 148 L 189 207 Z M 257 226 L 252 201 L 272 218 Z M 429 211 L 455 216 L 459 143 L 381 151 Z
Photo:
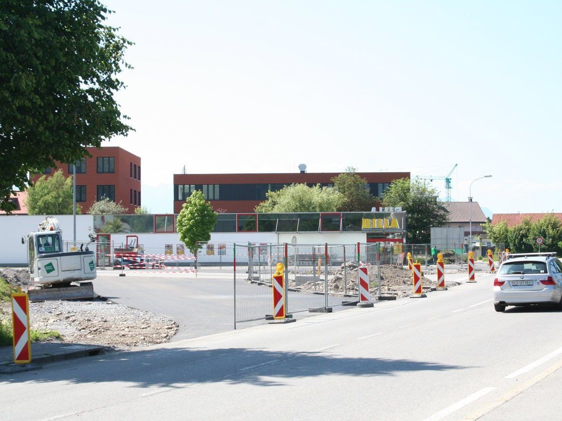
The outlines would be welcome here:
M 29 299 L 21 287 L 12 294 L 13 322 L 13 362 L 28 364 L 31 362 L 31 340 L 29 337 Z

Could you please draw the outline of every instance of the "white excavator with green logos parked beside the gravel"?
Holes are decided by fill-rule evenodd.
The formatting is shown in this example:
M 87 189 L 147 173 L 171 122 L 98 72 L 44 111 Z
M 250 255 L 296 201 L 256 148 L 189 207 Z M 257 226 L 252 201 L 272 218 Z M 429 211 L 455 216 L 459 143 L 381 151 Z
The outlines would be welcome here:
M 33 289 L 28 290 L 30 301 L 96 298 L 92 282 L 96 279 L 96 255 L 88 246 L 64 251 L 62 230 L 58 219 L 48 216 L 39 223 L 39 229 L 21 238 L 28 244 L 29 276 Z

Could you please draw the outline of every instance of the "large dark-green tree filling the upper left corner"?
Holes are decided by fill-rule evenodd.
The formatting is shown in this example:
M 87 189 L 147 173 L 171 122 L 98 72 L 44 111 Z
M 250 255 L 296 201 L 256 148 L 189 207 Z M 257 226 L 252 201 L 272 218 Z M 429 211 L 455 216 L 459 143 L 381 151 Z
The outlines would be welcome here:
M 132 43 L 105 25 L 98 0 L 0 2 L 0 209 L 28 172 L 75 162 L 126 135 L 114 94 Z

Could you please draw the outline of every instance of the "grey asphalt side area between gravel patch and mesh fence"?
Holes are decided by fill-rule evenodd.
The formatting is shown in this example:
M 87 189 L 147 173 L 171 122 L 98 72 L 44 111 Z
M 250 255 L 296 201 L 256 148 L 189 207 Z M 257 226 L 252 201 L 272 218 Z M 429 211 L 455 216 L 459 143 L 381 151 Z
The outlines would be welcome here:
M 178 333 L 173 341 L 180 341 L 213 333 L 234 329 L 233 280 L 226 277 L 195 277 L 193 273 L 164 274 L 150 271 L 125 271 L 120 277 L 119 271 L 98 272 L 94 282 L 94 291 L 115 303 L 133 308 L 147 310 L 163 315 L 179 324 Z M 134 274 L 132 274 L 134 273 Z M 265 315 L 273 312 L 271 289 L 269 287 L 250 285 L 245 281 L 238 297 L 238 320 L 261 320 L 238 323 L 238 328 L 264 324 Z M 244 297 L 244 293 L 251 296 Z M 289 293 L 289 300 L 294 304 L 303 302 L 311 306 L 322 306 L 322 295 Z M 345 300 L 352 300 L 347 298 Z M 329 304 L 336 305 L 343 299 L 329 297 Z M 312 305 L 314 304 L 314 305 Z M 300 308 L 309 308 L 301 305 Z M 341 310 L 334 306 L 334 311 Z M 244 311 L 246 310 L 246 311 Z M 244 318 L 245 315 L 250 317 Z M 295 313 L 294 318 L 302 318 L 312 313 Z

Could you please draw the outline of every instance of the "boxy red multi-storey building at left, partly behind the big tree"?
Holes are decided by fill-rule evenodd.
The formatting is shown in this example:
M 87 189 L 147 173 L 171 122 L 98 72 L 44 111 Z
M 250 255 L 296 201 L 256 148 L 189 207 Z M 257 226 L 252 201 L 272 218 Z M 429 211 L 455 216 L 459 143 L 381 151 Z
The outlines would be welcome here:
M 87 148 L 91 158 L 76 163 L 76 203 L 87 213 L 92 203 L 103 197 L 121 203 L 128 213 L 140 206 L 140 157 L 120 147 Z M 62 170 L 65 177 L 72 175 L 72 164 L 57 163 L 56 168 L 46 168 L 42 175 L 52 175 Z

